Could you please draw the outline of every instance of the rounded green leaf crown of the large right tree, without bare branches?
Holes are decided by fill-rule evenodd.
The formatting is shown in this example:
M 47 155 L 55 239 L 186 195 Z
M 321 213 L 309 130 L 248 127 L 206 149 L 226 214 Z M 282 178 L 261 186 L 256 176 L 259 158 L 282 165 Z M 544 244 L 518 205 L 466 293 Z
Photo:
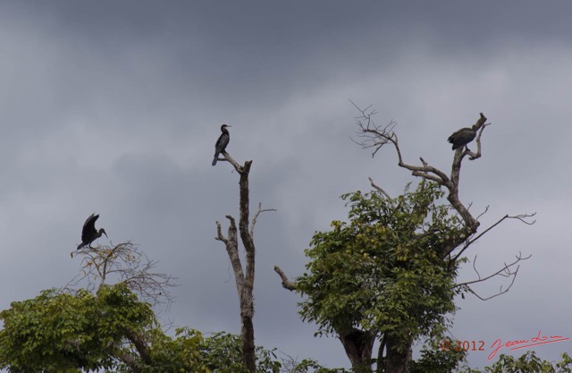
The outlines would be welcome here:
M 341 196 L 349 221 L 315 233 L 296 283 L 306 295 L 300 315 L 317 323 L 316 334 L 358 328 L 410 343 L 442 331 L 456 310 L 457 276 L 444 250 L 463 228 L 442 197 L 434 182 L 408 185 L 395 199 L 379 191 Z

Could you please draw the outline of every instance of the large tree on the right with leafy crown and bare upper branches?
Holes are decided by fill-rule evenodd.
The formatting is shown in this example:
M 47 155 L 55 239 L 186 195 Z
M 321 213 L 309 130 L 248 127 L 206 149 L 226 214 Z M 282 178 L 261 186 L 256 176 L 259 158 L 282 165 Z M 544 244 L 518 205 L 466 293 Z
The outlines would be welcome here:
M 342 196 L 348 200 L 349 221 L 333 221 L 331 231 L 315 233 L 306 250 L 307 273 L 292 283 L 282 269 L 274 270 L 282 277 L 283 287 L 305 296 L 300 314 L 317 324 L 317 335 L 340 338 L 355 371 L 371 372 L 375 363 L 380 373 L 407 373 L 414 366 L 410 364 L 412 343 L 422 337 L 439 340 L 450 326 L 447 317 L 456 310 L 454 295 L 475 293 L 472 284 L 493 276 L 514 281 L 517 263 L 527 259 L 518 256 L 491 276 L 477 274 L 475 281 L 458 284 L 458 269 L 467 261 L 463 254 L 468 247 L 503 220 L 527 223 L 529 216 L 503 216 L 477 234 L 479 216 L 473 216 L 458 197 L 462 161 L 481 157 L 481 136 L 488 125 L 484 114 L 472 127 L 476 152 L 468 146 L 457 148 L 447 174 L 423 158 L 420 165 L 406 163 L 392 131 L 395 123 L 376 125 L 374 111 L 358 110 L 362 140 L 357 143 L 374 148 L 373 156 L 384 145 L 392 146 L 398 165 L 419 177 L 419 186 L 391 198 L 370 178 L 374 191 Z M 375 341 L 379 349 L 373 359 Z M 417 361 L 421 371 L 431 364 L 432 369 L 438 367 L 436 371 L 447 371 L 462 358 L 434 349 L 424 356 L 425 360 Z

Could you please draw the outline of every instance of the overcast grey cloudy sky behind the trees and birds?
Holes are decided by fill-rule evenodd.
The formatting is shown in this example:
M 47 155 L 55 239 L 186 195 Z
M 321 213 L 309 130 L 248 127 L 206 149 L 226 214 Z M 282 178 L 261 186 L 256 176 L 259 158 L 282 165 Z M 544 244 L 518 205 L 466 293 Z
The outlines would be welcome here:
M 451 330 L 481 341 L 572 337 L 568 242 L 572 4 L 554 1 L 0 3 L 0 308 L 67 284 L 92 212 L 114 243 L 131 240 L 181 286 L 164 320 L 239 333 L 238 301 L 216 220 L 238 216 L 238 175 L 211 166 L 221 123 L 232 157 L 254 160 L 257 344 L 348 367 L 341 343 L 313 336 L 273 265 L 299 276 L 341 193 L 397 195 L 414 179 L 395 154 L 349 140 L 359 106 L 399 125 L 409 163 L 449 170 L 452 131 L 492 122 L 484 157 L 462 169 L 461 200 L 508 222 L 469 250 L 481 273 L 518 252 L 507 294 L 467 296 Z M 106 239 L 100 243 L 108 243 Z M 470 267 L 462 279 L 475 278 Z M 498 283 L 480 286 L 483 296 Z M 557 360 L 572 342 L 536 348 Z M 527 350 L 514 352 L 517 356 Z

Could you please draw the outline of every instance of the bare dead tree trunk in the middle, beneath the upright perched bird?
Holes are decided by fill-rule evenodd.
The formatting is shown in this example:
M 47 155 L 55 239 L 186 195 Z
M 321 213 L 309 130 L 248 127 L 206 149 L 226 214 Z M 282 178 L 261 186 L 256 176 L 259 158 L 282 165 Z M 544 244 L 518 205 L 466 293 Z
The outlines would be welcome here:
M 227 215 L 230 225 L 227 237 L 223 236 L 222 227 L 220 222 L 216 222 L 217 236 L 215 240 L 224 242 L 226 252 L 231 259 L 232 270 L 236 281 L 236 290 L 239 294 L 240 301 L 240 336 L 242 339 L 242 362 L 249 372 L 254 373 L 257 369 L 256 366 L 256 351 L 254 343 L 254 324 L 252 318 L 254 317 L 254 275 L 255 275 L 255 245 L 254 245 L 254 226 L 257 223 L 257 216 L 263 211 L 271 209 L 261 209 L 258 204 L 258 210 L 250 222 L 250 229 L 248 229 L 249 208 L 248 208 L 248 173 L 250 172 L 250 165 L 252 161 L 246 161 L 244 165 L 239 165 L 228 153 L 223 152 L 224 160 L 227 160 L 234 166 L 234 169 L 240 174 L 240 219 L 239 231 L 240 241 L 244 245 L 246 251 L 246 270 L 243 270 L 242 263 L 240 262 L 239 255 L 239 240 L 237 236 L 237 227 L 234 217 Z M 245 274 L 246 272 L 246 274 Z

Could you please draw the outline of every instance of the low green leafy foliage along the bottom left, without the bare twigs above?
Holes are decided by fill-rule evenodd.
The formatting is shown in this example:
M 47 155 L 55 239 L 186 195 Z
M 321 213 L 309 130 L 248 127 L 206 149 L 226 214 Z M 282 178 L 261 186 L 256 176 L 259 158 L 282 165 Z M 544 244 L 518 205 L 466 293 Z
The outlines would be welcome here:
M 248 372 L 240 336 L 189 328 L 165 335 L 150 305 L 124 283 L 95 294 L 48 290 L 14 301 L 0 318 L 0 368 L 11 372 Z M 257 372 L 280 371 L 273 351 L 256 353 Z

